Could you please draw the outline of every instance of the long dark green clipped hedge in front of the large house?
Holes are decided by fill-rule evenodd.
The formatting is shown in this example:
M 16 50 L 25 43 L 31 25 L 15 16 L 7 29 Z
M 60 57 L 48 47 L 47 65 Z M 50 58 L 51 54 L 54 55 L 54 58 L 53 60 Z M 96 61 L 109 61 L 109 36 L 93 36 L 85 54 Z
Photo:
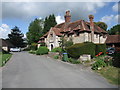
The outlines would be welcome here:
M 105 44 L 94 44 L 91 42 L 78 43 L 66 48 L 67 53 L 72 58 L 79 58 L 80 55 L 90 54 L 94 57 L 99 52 L 106 52 Z

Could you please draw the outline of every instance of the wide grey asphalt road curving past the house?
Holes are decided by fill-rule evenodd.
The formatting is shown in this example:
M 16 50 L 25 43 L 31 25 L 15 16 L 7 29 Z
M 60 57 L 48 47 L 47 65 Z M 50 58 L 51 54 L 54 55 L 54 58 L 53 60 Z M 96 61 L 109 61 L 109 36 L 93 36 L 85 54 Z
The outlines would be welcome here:
M 15 52 L 2 71 L 3 88 L 115 88 L 81 65 Z

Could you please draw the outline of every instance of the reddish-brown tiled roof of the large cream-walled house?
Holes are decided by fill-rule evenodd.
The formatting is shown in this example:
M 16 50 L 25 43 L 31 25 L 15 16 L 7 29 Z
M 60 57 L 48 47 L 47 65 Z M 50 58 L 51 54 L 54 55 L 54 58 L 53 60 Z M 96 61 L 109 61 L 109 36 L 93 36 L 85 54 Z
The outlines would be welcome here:
M 69 23 L 64 22 L 64 23 L 56 25 L 55 27 L 52 27 L 52 29 L 57 36 L 61 36 L 63 33 L 73 34 L 75 31 L 91 32 L 90 22 L 86 22 L 84 20 L 77 20 L 77 21 L 69 22 Z M 94 32 L 95 33 L 107 33 L 105 30 L 101 29 L 97 25 L 94 25 Z M 47 35 L 48 35 L 48 33 L 46 33 L 43 37 L 45 37 Z

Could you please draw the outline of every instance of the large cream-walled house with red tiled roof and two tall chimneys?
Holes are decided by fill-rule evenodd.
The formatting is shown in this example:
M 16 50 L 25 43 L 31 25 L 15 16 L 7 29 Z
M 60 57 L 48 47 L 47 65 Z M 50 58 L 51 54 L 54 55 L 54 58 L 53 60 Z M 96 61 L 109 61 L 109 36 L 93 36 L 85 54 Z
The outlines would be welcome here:
M 49 50 L 59 47 L 62 36 L 64 36 L 66 40 L 72 39 L 74 44 L 83 42 L 93 42 L 95 44 L 105 43 L 107 32 L 94 24 L 93 15 L 89 15 L 89 22 L 84 20 L 71 22 L 70 11 L 66 11 L 64 18 L 65 22 L 51 27 L 51 29 L 40 38 L 38 42 L 39 46 L 40 42 L 45 42 Z

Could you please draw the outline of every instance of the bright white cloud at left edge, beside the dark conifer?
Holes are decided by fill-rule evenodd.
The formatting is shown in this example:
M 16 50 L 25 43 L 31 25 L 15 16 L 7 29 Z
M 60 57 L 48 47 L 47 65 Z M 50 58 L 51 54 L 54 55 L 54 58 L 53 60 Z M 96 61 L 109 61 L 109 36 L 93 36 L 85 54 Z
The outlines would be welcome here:
M 10 27 L 7 24 L 2 24 L 0 26 L 0 38 L 8 38 L 8 34 L 11 32 Z

